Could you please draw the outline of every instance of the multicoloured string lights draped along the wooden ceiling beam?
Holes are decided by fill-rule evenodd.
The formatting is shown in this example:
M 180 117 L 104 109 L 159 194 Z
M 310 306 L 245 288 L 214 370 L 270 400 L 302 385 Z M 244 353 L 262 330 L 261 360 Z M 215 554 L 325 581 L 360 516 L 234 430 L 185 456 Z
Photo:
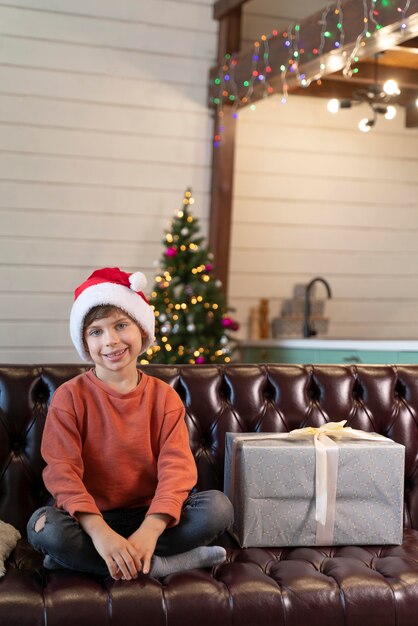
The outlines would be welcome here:
M 345 78 L 351 78 L 353 74 L 357 74 L 359 69 L 355 66 L 359 61 L 360 50 L 366 45 L 366 40 L 382 28 L 381 17 L 386 9 L 396 6 L 396 10 L 400 15 L 400 28 L 403 31 L 406 30 L 406 16 L 411 0 L 401 4 L 399 4 L 399 0 L 370 0 L 370 7 L 368 0 L 361 0 L 361 2 L 363 11 L 360 30 L 350 52 L 344 49 L 346 33 L 344 30 L 343 3 L 342 0 L 338 0 L 334 7 L 332 4 L 329 4 L 322 12 L 319 20 L 321 32 L 318 45 L 309 50 L 305 50 L 303 44 L 301 45 L 301 41 L 303 41 L 301 37 L 302 27 L 298 23 L 289 25 L 288 29 L 282 33 L 278 30 L 273 30 L 268 35 L 262 35 L 260 41 L 255 41 L 250 74 L 241 79 L 241 84 L 238 84 L 235 79 L 239 63 L 238 58 L 236 55 L 226 54 L 221 68 L 222 72 L 214 79 L 215 86 L 218 89 L 218 93 L 213 97 L 213 104 L 216 105 L 218 116 L 217 131 L 214 137 L 215 147 L 220 146 L 222 143 L 224 131 L 223 107 L 225 104 L 232 104 L 233 116 L 237 117 L 240 106 L 249 105 L 251 110 L 255 110 L 256 107 L 252 102 L 252 97 L 256 86 L 263 85 L 263 97 L 274 93 L 274 89 L 269 82 L 269 75 L 272 72 L 270 42 L 273 38 L 282 40 L 283 47 L 286 50 L 287 59 L 280 61 L 279 65 L 281 92 L 278 92 L 281 96 L 282 104 L 285 104 L 289 92 L 289 77 L 292 78 L 292 82 L 296 81 L 300 87 L 306 88 L 313 81 L 321 84 L 321 78 L 325 70 L 332 73 L 332 71 L 337 71 L 342 67 Z M 300 71 L 303 63 L 321 58 L 325 50 L 330 53 L 328 54 L 327 63 L 321 63 L 318 72 L 314 76 L 306 76 Z M 245 91 L 240 96 L 239 94 L 242 92 L 243 87 Z M 344 108 L 344 105 L 341 105 L 341 107 Z

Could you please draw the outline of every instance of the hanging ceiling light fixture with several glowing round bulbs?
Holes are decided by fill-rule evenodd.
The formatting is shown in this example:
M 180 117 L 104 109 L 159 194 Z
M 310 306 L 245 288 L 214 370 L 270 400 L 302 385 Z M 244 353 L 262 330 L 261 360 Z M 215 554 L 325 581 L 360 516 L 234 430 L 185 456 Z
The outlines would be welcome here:
M 363 118 L 359 122 L 359 129 L 367 133 L 376 124 L 378 115 L 384 115 L 387 120 L 392 120 L 396 116 L 396 108 L 391 103 L 400 93 L 396 80 L 387 80 L 383 87 L 378 84 L 378 55 L 376 55 L 374 83 L 364 89 L 354 91 L 352 99 L 332 98 L 328 102 L 327 109 L 330 113 L 337 113 L 340 109 L 350 109 L 358 104 L 368 104 L 371 109 L 371 116 Z

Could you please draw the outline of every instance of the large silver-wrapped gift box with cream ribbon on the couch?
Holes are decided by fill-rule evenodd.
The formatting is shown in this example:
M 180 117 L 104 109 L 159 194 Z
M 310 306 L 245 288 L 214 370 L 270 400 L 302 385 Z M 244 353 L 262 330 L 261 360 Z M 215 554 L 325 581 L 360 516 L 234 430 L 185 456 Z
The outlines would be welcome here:
M 227 433 L 224 491 L 242 547 L 402 543 L 404 446 L 344 424 Z

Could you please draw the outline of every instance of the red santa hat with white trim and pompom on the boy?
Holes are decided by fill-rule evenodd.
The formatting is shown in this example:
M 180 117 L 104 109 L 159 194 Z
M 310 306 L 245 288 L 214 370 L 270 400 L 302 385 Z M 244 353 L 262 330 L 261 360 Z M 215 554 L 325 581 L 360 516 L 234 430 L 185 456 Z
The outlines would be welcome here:
M 143 331 L 142 350 L 150 347 L 154 341 L 155 317 L 142 291 L 146 284 L 147 279 L 142 272 L 127 274 L 118 267 L 105 267 L 93 272 L 76 288 L 70 314 L 70 335 L 84 361 L 91 361 L 84 347 L 84 319 L 95 306 L 113 305 L 128 313 Z

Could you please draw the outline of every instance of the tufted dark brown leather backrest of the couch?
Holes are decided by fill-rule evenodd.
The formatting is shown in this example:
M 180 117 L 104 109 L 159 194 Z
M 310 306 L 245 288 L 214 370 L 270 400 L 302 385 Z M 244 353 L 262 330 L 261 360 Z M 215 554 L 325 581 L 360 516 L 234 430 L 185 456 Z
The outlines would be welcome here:
M 39 448 L 49 401 L 77 365 L 0 367 L 0 519 L 24 531 L 47 498 Z M 405 526 L 418 529 L 418 365 L 149 365 L 186 406 L 197 488 L 222 489 L 227 432 L 287 432 L 325 422 L 406 447 Z

